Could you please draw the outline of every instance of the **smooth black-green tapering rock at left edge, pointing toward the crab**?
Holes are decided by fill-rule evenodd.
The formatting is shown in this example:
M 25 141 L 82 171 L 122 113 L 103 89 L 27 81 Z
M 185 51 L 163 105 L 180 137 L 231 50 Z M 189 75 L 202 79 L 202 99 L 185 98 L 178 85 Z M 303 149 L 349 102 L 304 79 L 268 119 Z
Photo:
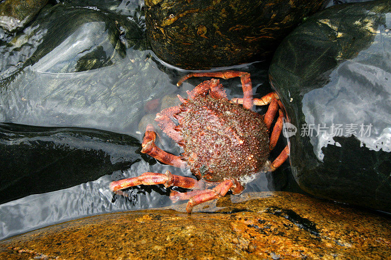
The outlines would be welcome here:
M 127 169 L 141 160 L 138 150 L 128 135 L 0 123 L 0 204 Z

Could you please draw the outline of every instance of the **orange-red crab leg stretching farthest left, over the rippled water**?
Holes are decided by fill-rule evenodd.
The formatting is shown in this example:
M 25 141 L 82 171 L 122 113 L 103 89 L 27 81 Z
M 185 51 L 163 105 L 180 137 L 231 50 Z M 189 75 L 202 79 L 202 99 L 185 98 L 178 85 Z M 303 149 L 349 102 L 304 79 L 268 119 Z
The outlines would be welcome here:
M 126 189 L 132 186 L 137 186 L 140 184 L 144 185 L 155 185 L 155 184 L 164 184 L 166 188 L 170 186 L 178 186 L 185 189 L 203 189 L 205 188 L 205 183 L 203 181 L 197 181 L 190 177 L 183 177 L 171 174 L 170 171 L 166 171 L 165 174 L 162 173 L 153 173 L 146 172 L 138 177 L 133 177 L 123 180 L 115 180 L 110 183 L 110 190 L 117 191 Z

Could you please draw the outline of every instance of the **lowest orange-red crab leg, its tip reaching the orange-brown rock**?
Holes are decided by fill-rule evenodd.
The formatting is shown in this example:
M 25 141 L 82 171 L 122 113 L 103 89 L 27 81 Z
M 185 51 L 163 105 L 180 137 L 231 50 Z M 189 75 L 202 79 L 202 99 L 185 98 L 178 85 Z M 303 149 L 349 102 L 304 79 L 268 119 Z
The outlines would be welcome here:
M 235 182 L 239 184 L 239 182 L 237 181 Z M 238 187 L 238 184 L 234 189 L 243 190 L 243 187 L 241 188 Z M 224 180 L 213 189 L 205 190 L 203 193 L 193 196 L 192 198 L 190 198 L 189 202 L 187 202 L 186 211 L 188 213 L 191 213 L 195 205 L 201 204 L 209 200 L 214 200 L 214 199 L 224 197 L 225 194 L 232 188 L 232 186 L 234 186 L 233 180 Z M 239 184 L 239 186 L 241 185 Z

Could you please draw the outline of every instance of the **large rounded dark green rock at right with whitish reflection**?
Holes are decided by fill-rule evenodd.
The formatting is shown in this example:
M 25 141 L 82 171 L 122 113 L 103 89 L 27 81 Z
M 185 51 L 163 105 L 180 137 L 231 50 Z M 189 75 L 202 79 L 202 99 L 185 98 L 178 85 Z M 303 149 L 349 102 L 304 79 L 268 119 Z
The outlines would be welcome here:
M 298 127 L 289 140 L 299 186 L 318 197 L 388 212 L 390 17 L 389 0 L 327 8 L 283 40 L 269 71 L 288 121 Z M 313 134 L 305 127 L 313 127 Z

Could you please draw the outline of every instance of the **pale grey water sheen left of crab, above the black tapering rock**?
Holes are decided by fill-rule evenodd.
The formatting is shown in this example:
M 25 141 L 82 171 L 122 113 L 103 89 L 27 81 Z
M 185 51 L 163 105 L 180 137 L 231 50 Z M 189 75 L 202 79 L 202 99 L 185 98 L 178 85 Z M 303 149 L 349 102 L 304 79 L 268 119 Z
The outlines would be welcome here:
M 135 133 L 143 104 L 168 91 L 168 86 L 171 91 L 176 90 L 166 74 L 152 67 L 152 60 L 144 62 L 145 56 L 139 58 L 143 62 L 137 59 L 132 63 L 128 59 L 123 64 L 66 74 L 39 73 L 27 68 L 23 77 L 14 80 L 0 97 L 0 120 Z M 150 66 L 143 70 L 146 63 Z

